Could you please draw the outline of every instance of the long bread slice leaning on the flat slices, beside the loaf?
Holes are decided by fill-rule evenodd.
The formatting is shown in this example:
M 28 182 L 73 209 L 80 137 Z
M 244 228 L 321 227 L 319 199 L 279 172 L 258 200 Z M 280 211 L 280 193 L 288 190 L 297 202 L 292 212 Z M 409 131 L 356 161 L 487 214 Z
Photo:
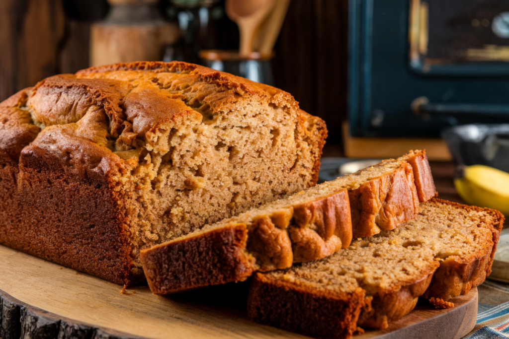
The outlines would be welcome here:
M 153 246 L 140 258 L 156 294 L 243 281 L 257 270 L 329 256 L 352 237 L 394 229 L 434 195 L 426 152 L 410 151 Z

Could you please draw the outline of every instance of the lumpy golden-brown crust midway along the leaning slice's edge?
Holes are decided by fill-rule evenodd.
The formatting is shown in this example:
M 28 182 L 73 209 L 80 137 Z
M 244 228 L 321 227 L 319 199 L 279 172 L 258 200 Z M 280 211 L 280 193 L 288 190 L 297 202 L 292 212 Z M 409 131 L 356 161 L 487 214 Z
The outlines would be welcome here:
M 314 198 L 286 209 L 288 223 L 276 225 L 275 215 L 262 215 L 249 227 L 247 251 L 260 271 L 283 269 L 294 262 L 325 258 L 352 241 L 348 192 Z M 277 212 L 277 217 L 281 212 Z M 292 224 L 290 224 L 292 220 Z

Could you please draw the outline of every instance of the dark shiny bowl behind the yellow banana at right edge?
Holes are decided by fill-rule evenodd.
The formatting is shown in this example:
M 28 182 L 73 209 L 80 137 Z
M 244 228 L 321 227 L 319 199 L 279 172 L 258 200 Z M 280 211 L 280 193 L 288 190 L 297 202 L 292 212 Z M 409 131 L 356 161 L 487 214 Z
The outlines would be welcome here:
M 442 138 L 457 164 L 509 172 L 509 124 L 455 126 L 444 130 Z

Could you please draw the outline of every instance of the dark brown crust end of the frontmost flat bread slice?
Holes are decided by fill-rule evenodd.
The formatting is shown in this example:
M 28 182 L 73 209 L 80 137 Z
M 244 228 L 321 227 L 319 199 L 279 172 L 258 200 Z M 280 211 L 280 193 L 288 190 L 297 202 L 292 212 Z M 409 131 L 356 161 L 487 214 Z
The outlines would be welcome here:
M 349 338 L 361 310 L 370 309 L 370 299 L 361 288 L 324 292 L 256 273 L 247 305 L 248 316 L 263 324 L 314 337 Z

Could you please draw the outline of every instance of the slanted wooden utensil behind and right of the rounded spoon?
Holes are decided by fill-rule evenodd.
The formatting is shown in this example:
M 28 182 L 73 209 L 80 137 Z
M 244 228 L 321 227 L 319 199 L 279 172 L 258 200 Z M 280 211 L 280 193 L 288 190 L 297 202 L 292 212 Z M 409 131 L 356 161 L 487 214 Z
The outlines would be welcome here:
M 254 50 L 266 55 L 272 52 L 288 11 L 290 0 L 277 0 L 272 11 L 260 25 Z

